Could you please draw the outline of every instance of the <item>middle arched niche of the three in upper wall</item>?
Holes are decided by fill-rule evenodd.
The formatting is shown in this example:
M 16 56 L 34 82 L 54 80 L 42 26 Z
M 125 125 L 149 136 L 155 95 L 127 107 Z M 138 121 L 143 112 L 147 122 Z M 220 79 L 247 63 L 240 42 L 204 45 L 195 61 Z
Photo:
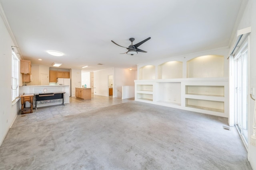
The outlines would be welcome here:
M 158 66 L 158 79 L 182 78 L 182 62 L 169 61 Z

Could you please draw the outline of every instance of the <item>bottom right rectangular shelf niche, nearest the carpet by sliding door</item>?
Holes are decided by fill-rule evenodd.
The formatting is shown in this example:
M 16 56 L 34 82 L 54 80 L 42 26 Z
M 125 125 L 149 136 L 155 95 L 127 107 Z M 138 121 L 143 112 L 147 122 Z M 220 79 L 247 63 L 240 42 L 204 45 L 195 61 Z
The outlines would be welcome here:
M 186 107 L 224 113 L 224 102 L 186 98 Z

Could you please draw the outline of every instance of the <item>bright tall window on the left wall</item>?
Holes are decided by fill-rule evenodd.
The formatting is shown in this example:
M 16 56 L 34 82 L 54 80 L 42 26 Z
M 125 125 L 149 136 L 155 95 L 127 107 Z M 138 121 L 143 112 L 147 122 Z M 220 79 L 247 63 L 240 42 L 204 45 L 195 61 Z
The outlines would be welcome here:
M 19 69 L 20 61 L 12 51 L 12 102 L 19 97 Z

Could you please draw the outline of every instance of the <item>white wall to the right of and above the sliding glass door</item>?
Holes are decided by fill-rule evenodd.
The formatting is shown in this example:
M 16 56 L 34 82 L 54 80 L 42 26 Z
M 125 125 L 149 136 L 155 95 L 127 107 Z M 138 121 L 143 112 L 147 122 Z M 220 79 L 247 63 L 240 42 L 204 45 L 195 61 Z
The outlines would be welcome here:
M 244 29 L 246 27 L 252 28 L 249 35 L 249 86 L 248 88 L 256 88 L 256 1 L 248 0 L 245 12 L 243 14 L 242 20 L 239 23 L 238 30 Z M 237 37 L 233 37 L 234 40 Z M 233 40 L 233 41 L 234 41 Z M 255 98 L 255 96 L 254 96 Z M 254 115 L 254 100 L 250 99 L 248 96 L 248 160 L 254 170 L 256 170 L 256 147 L 250 145 L 250 136 L 252 135 L 252 125 L 253 125 L 253 115 Z

